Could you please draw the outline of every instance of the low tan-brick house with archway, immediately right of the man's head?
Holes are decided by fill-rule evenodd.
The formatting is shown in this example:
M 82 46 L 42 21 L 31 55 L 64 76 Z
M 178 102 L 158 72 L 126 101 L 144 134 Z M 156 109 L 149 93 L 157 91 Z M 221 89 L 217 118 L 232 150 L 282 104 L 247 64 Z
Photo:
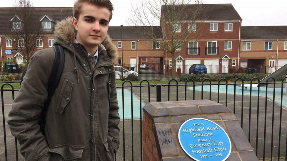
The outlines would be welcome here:
M 156 38 L 162 40 L 161 26 L 109 26 L 108 34 L 113 43 L 118 47 L 119 58 L 115 64 L 140 65 L 148 64 L 150 69 L 163 71 L 163 50 L 157 48 L 154 42 L 148 37 L 144 30 L 154 31 Z M 123 30 L 123 41 L 121 40 L 121 30 Z M 123 58 L 122 53 L 123 52 Z

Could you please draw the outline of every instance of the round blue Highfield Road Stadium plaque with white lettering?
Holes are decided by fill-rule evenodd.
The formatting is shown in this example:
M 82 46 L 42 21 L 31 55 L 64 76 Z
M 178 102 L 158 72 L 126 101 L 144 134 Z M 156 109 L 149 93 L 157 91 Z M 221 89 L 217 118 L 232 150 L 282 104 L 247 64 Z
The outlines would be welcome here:
M 223 161 L 231 152 L 231 141 L 218 124 L 205 118 L 185 121 L 178 132 L 181 148 L 194 160 Z

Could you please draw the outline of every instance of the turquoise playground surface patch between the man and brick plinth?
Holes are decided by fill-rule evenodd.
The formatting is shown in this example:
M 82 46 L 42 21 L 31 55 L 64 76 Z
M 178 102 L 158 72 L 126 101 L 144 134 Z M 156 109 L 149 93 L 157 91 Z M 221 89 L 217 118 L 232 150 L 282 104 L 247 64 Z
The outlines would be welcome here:
M 117 96 L 118 96 L 118 105 L 119 105 L 119 115 L 120 118 L 123 119 L 123 94 L 122 89 L 117 89 Z M 145 106 L 146 104 L 141 101 L 141 107 Z M 140 99 L 133 94 L 133 118 L 138 119 L 140 118 Z M 125 119 L 131 119 L 131 91 L 128 89 L 124 89 L 124 114 Z

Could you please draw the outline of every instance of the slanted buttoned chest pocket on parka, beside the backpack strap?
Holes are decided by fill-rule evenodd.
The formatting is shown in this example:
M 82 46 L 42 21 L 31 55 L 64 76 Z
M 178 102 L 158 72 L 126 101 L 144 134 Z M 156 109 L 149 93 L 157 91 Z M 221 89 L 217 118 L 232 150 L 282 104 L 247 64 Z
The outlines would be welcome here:
M 66 105 L 71 100 L 73 83 L 69 81 L 69 79 L 65 78 L 64 83 L 62 85 L 62 89 L 60 91 L 60 95 L 57 101 L 57 106 L 55 112 L 63 114 Z

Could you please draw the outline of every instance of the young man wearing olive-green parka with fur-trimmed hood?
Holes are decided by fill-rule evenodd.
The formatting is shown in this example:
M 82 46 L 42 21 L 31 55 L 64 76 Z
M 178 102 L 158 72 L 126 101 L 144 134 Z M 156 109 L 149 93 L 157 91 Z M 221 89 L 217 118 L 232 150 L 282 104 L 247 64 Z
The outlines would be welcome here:
M 38 122 L 55 52 L 47 48 L 31 58 L 8 118 L 26 160 L 114 160 L 120 118 L 112 61 L 117 49 L 107 35 L 112 11 L 109 0 L 77 0 L 74 18 L 56 24 L 54 45 L 63 46 L 65 64 L 45 135 Z

